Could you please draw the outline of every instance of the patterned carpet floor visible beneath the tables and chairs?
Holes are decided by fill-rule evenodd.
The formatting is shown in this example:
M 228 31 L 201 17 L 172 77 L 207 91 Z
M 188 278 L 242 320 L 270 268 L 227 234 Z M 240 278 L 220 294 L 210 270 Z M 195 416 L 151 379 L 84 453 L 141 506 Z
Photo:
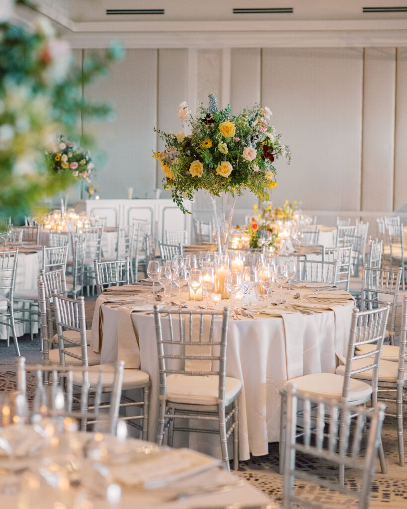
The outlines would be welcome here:
M 95 298 L 86 299 L 85 303 L 89 326 L 93 315 Z M 399 317 L 397 322 L 397 326 L 399 327 Z M 21 354 L 26 358 L 27 363 L 41 362 L 42 357 L 39 351 L 38 339 L 34 339 L 34 341 L 31 342 L 28 336 L 24 336 L 19 338 L 19 345 Z M 0 391 L 15 390 L 16 375 L 12 367 L 15 366 L 15 363 L 16 357 L 13 344 L 10 343 L 10 347 L 7 348 L 5 342 L 0 342 Z M 30 394 L 30 388 L 33 383 L 34 376 L 29 376 L 27 380 L 29 397 L 33 396 L 33 394 Z M 391 408 L 391 405 L 388 405 L 388 410 L 394 413 L 394 408 Z M 407 466 L 400 467 L 398 465 L 395 418 L 385 418 L 382 439 L 388 471 L 387 474 L 380 473 L 380 465 L 379 461 L 377 461 L 376 472 L 379 473 L 376 473 L 374 476 L 370 508 L 381 509 L 383 507 L 391 507 L 392 509 L 405 509 L 407 507 Z M 407 447 L 404 448 L 406 449 Z M 407 453 L 407 450 L 405 450 L 405 453 Z M 332 467 L 332 465 L 324 464 L 321 461 L 310 461 L 308 458 L 298 457 L 297 465 L 299 469 L 316 471 L 318 475 L 323 478 L 329 478 L 333 481 L 337 479 L 336 469 Z M 269 454 L 267 456 L 252 457 L 249 461 L 240 462 L 240 468 L 237 474 L 263 491 L 272 500 L 281 502 L 282 477 L 278 473 L 278 443 L 269 444 Z M 360 480 L 358 472 L 346 470 L 345 478 L 348 487 L 351 489 L 358 488 Z M 296 483 L 296 489 L 317 505 L 327 506 L 330 504 L 335 509 L 338 508 L 338 504 L 346 504 L 349 508 L 356 507 L 353 498 L 339 496 L 329 490 L 315 487 L 303 481 Z

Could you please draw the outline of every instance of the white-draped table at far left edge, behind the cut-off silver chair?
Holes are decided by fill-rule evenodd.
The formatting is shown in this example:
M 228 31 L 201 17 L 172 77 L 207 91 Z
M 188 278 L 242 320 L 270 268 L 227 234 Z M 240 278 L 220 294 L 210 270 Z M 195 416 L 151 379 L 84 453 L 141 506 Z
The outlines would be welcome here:
M 15 276 L 14 290 L 22 290 L 24 288 L 37 288 L 37 277 L 40 273 L 40 265 L 42 259 L 41 249 L 39 247 L 25 247 L 17 246 L 19 249 L 17 258 L 17 270 Z M 13 250 L 15 247 L 10 246 L 8 249 Z M 24 251 L 24 252 L 21 252 Z M 14 303 L 14 313 L 16 318 L 16 333 L 17 336 L 22 336 L 30 332 L 29 322 L 19 322 L 21 314 L 18 312 L 25 304 Z M 16 313 L 17 312 L 17 313 Z M 28 317 L 27 317 L 28 318 Z M 38 327 L 33 323 L 33 332 L 37 333 Z M 11 330 L 10 330 L 11 334 Z M 7 330 L 5 325 L 0 325 L 0 339 L 5 340 Z M 11 340 L 12 342 L 12 340 Z

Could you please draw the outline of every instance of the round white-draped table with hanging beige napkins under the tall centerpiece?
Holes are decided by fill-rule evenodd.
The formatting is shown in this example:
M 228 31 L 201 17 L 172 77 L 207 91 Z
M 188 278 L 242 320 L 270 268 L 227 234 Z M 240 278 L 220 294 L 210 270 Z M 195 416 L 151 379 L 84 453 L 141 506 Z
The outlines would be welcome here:
M 123 287 L 121 287 L 123 288 Z M 128 288 L 131 288 L 129 286 Z M 135 288 L 135 287 L 134 287 Z M 309 288 L 298 288 L 300 299 L 284 295 L 285 305 L 272 306 L 278 312 L 290 302 L 315 306 L 308 301 L 323 293 L 310 293 Z M 343 291 L 342 291 L 343 292 Z M 329 292 L 334 296 L 336 292 Z M 325 292 L 326 294 L 326 292 Z M 345 292 L 346 294 L 346 292 Z M 149 439 L 154 440 L 159 407 L 159 372 L 155 338 L 154 316 L 137 312 L 139 303 L 120 305 L 115 299 L 127 297 L 99 296 L 92 324 L 92 346 L 101 353 L 101 362 L 125 361 L 128 368 L 141 368 L 152 380 Z M 134 295 L 134 294 L 133 294 Z M 150 300 L 151 290 L 142 290 L 135 299 Z M 310 297 L 307 297 L 307 296 Z M 254 319 L 243 317 L 229 321 L 226 355 L 226 375 L 242 381 L 239 400 L 240 458 L 268 454 L 268 443 L 279 439 L 279 390 L 292 378 L 309 373 L 331 372 L 337 366 L 337 355 L 346 354 L 354 301 L 331 302 L 326 310 L 305 315 L 300 312 L 282 313 L 282 316 L 259 314 Z M 186 300 L 187 293 L 183 295 Z M 333 297 L 331 297 L 333 298 Z M 103 303 L 105 302 L 105 303 Z M 193 303 L 188 302 L 191 306 Z M 239 303 L 237 303 L 239 305 Z M 230 305 L 223 300 L 219 309 Z M 241 305 L 241 304 L 240 304 Z M 283 310 L 282 310 L 283 311 Z M 165 333 L 167 320 L 162 318 Z M 221 317 L 215 319 L 214 333 L 220 335 Z M 177 435 L 181 435 L 178 433 Z M 180 444 L 198 448 L 207 454 L 218 455 L 218 437 L 190 434 L 189 442 Z

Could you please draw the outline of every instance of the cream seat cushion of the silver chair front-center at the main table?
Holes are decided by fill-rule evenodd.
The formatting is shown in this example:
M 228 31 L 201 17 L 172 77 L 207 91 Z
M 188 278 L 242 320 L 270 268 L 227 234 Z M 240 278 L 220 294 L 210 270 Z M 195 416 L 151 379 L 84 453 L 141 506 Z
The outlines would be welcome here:
M 167 400 L 190 405 L 216 405 L 219 377 L 172 374 L 167 376 Z M 239 394 L 242 382 L 237 378 L 225 379 L 225 404 Z

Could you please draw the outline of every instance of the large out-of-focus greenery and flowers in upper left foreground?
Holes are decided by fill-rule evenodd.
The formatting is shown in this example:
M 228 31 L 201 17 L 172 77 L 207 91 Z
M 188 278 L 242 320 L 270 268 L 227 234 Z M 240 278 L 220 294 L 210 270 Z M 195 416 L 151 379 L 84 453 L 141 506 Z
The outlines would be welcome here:
M 26 2 L 15 4 L 31 10 Z M 55 173 L 46 153 L 57 150 L 62 133 L 90 147 L 81 120 L 103 118 L 111 110 L 85 101 L 83 87 L 106 73 L 123 49 L 112 44 L 103 56 L 77 65 L 46 18 L 18 24 L 11 21 L 12 7 L 0 6 L 0 216 L 12 216 L 16 224 L 46 196 L 75 182 L 72 171 Z

